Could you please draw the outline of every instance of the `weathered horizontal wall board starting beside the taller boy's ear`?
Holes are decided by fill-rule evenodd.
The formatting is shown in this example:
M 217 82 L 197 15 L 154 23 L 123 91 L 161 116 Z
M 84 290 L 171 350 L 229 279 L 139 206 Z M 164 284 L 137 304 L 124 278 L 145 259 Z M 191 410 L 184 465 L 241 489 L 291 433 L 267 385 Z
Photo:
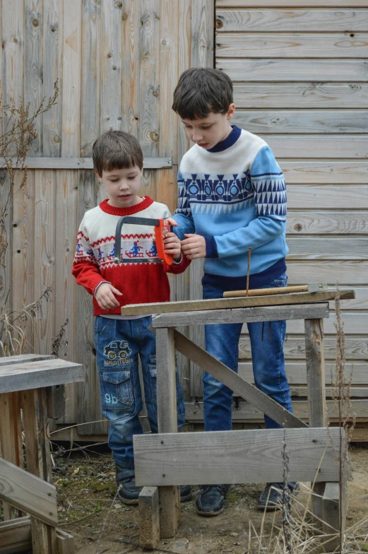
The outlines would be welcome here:
M 254 134 L 366 133 L 367 110 L 239 110 L 234 123 Z M 297 146 L 297 145 L 295 145 Z M 367 148 L 366 148 L 367 149 Z M 325 155 L 327 158 L 328 155 Z M 345 156 L 343 156 L 345 158 Z

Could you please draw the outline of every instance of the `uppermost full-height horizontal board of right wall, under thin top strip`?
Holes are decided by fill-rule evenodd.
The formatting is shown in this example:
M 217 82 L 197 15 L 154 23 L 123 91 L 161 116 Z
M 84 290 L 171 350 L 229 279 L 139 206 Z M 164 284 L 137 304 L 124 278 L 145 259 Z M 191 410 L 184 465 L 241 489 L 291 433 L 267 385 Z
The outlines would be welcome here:
M 367 6 L 366 6 L 367 7 Z M 247 9 L 216 10 L 216 29 L 220 33 L 275 31 L 298 33 L 311 31 L 367 31 L 367 10 L 300 10 L 300 9 Z

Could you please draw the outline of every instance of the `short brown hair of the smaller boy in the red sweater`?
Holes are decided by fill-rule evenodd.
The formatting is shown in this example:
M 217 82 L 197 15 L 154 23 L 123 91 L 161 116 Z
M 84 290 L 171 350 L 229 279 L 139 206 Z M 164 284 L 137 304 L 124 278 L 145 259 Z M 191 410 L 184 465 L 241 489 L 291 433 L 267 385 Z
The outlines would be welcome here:
M 92 147 L 93 167 L 97 175 L 102 171 L 143 167 L 143 152 L 135 136 L 125 131 L 107 131 L 98 137 Z

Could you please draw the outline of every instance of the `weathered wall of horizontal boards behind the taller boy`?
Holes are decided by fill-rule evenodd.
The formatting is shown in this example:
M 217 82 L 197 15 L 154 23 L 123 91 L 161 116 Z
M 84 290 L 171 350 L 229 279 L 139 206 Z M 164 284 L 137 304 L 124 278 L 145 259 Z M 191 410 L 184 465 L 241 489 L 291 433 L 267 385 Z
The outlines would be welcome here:
M 234 81 L 235 122 L 261 135 L 285 172 L 289 283 L 356 289 L 342 303 L 347 369 L 353 394 L 368 396 L 367 2 L 217 0 L 215 16 L 215 64 Z M 334 312 L 325 321 L 328 381 L 335 321 Z M 287 326 L 295 396 L 305 396 L 302 333 L 302 322 Z M 251 378 L 245 330 L 240 358 Z

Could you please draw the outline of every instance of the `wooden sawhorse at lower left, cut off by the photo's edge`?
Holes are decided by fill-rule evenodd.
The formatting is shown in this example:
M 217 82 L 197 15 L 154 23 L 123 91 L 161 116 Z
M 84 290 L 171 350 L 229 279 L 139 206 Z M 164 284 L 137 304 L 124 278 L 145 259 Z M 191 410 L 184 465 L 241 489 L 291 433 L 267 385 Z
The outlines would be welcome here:
M 73 536 L 57 529 L 48 418 L 64 408 L 64 384 L 84 381 L 83 366 L 52 355 L 0 358 L 0 554 L 73 554 Z M 23 422 L 20 418 L 23 411 Z M 24 429 L 27 471 L 23 469 Z M 21 517 L 22 512 L 30 517 Z M 24 514 L 23 514 L 24 515 Z

